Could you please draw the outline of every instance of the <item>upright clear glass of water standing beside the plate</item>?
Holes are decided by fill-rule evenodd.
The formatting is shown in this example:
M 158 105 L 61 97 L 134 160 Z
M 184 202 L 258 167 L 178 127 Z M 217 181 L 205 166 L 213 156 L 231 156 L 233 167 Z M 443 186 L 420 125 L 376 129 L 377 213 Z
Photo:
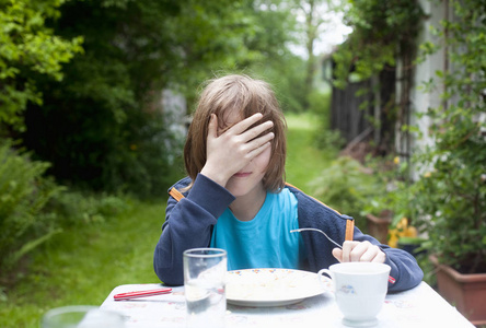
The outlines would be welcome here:
M 227 251 L 193 248 L 184 251 L 187 327 L 224 327 Z

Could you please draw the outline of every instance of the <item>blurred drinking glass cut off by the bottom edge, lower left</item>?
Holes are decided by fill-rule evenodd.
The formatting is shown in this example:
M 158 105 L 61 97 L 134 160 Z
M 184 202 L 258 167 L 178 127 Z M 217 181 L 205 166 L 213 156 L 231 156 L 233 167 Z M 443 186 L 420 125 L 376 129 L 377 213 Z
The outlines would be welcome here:
M 97 306 L 73 305 L 49 309 L 42 319 L 42 328 L 123 328 L 120 314 Z

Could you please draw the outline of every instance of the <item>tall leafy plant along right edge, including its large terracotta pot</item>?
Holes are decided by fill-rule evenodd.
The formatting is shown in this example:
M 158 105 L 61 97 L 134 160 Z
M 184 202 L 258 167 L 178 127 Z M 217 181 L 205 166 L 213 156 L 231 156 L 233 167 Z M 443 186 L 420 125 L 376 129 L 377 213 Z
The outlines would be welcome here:
M 414 160 L 420 178 L 410 186 L 410 208 L 414 224 L 428 235 L 423 246 L 437 263 L 439 292 L 473 324 L 485 325 L 486 57 L 477 54 L 486 54 L 486 25 L 479 20 L 486 8 L 470 0 L 458 4 L 451 1 L 454 22 L 442 22 L 447 33 L 438 34 L 450 69 L 437 72 L 443 103 L 426 114 L 433 143 Z

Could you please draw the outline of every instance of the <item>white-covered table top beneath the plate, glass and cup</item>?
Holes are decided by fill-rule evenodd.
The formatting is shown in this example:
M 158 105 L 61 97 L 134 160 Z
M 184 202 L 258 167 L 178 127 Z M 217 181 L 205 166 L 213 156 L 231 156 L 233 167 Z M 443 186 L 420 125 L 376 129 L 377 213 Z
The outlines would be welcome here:
M 185 327 L 184 286 L 173 293 L 132 301 L 114 301 L 114 295 L 163 288 L 162 284 L 124 284 L 116 286 L 101 305 L 125 316 L 126 328 Z M 242 307 L 228 304 L 225 327 L 345 327 L 329 292 L 297 304 L 277 307 Z M 462 328 L 474 326 L 427 283 L 386 295 L 375 327 Z

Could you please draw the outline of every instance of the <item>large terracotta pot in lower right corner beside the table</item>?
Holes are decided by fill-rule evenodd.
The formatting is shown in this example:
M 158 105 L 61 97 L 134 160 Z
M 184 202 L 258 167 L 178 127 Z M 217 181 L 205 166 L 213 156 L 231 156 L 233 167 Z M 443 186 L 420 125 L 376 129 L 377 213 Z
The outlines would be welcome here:
M 486 273 L 462 274 L 449 266 L 436 266 L 439 294 L 454 305 L 473 325 L 486 325 Z

